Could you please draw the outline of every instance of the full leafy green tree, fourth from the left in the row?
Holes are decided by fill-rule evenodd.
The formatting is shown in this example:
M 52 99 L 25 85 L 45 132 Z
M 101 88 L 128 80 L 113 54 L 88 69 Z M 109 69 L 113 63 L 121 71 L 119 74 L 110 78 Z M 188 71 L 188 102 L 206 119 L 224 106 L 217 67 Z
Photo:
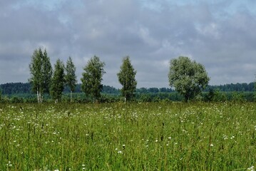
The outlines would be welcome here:
M 103 67 L 104 62 L 100 61 L 100 58 L 94 56 L 91 58 L 87 65 L 83 68 L 83 77 L 81 78 L 82 85 L 81 89 L 87 95 L 90 95 L 94 100 L 101 98 L 101 90 L 103 85 L 101 81 L 103 80 L 103 74 L 105 73 Z

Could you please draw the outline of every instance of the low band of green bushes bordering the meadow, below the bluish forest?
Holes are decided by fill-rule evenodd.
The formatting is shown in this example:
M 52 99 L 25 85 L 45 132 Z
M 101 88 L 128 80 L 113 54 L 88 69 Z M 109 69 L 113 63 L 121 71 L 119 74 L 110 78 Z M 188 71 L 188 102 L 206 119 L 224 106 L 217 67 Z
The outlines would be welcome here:
M 109 94 L 102 93 L 101 98 L 98 99 L 100 103 L 114 103 L 123 102 L 123 97 L 121 94 Z M 225 102 L 225 101 L 235 101 L 235 102 L 255 102 L 256 96 L 254 92 L 244 91 L 244 92 L 220 92 L 218 90 L 203 92 L 198 95 L 195 101 L 205 101 L 205 102 Z M 173 91 L 170 93 L 135 93 L 132 100 L 133 102 L 162 102 L 162 101 L 173 101 L 180 102 L 184 101 L 183 95 Z M 37 103 L 37 98 L 35 94 L 31 93 L 19 93 L 14 95 L 1 95 L 1 103 Z M 53 103 L 53 99 L 50 95 L 44 95 L 44 103 Z M 68 93 L 61 96 L 61 102 L 70 102 L 70 97 Z M 85 93 L 73 93 L 74 103 L 92 103 L 93 99 L 86 95 Z

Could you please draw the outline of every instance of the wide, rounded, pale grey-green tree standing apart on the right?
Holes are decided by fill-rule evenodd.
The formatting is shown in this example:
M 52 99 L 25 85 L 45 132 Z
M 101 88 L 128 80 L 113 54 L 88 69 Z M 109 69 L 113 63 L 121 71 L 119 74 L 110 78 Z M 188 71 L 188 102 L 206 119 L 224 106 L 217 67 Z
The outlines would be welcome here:
M 184 96 L 185 102 L 200 94 L 210 80 L 203 65 L 184 56 L 170 61 L 168 78 L 170 86 Z

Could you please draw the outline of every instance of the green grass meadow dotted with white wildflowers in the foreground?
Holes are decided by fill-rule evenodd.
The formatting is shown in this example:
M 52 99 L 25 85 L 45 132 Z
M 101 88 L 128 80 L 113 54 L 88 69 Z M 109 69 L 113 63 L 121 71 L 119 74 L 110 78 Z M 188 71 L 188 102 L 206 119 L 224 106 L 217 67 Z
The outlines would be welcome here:
M 255 103 L 0 104 L 0 170 L 253 170 Z

